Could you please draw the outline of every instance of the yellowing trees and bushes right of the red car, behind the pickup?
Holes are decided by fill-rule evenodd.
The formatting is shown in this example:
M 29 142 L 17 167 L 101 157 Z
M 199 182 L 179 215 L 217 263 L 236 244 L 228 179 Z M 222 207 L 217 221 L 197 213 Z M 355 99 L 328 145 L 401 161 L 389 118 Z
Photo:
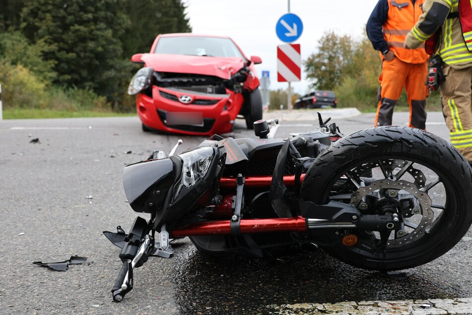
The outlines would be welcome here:
M 377 110 L 381 61 L 379 52 L 372 48 L 365 33 L 360 40 L 355 40 L 350 36 L 326 32 L 319 41 L 317 51 L 302 64 L 311 82 L 310 88 L 334 91 L 339 108 L 355 107 L 362 112 Z M 300 96 L 292 93 L 292 103 Z M 286 91 L 271 91 L 270 109 L 278 109 L 280 104 L 287 103 L 286 99 Z M 426 109 L 441 110 L 438 91 L 430 93 L 426 99 Z M 396 110 L 409 110 L 405 89 Z

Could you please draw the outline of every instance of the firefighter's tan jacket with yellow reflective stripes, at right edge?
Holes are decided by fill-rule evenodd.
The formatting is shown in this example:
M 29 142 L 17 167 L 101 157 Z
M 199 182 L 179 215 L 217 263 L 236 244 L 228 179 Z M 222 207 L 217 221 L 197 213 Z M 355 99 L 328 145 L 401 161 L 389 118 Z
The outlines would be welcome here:
M 464 2 L 464 0 L 461 0 Z M 461 3 L 461 7 L 472 6 L 470 0 Z M 459 0 L 425 0 L 424 13 L 419 17 L 411 32 L 406 36 L 405 42 L 408 47 L 419 47 L 426 39 L 431 37 L 441 27 L 439 55 L 444 63 L 454 69 L 463 69 L 472 66 L 472 52 L 466 45 L 465 38 L 471 39 L 472 27 L 466 24 L 463 32 L 459 17 L 448 18 L 450 12 L 459 12 Z M 462 14 L 462 13 L 461 13 Z M 472 17 L 469 21 L 472 20 Z M 469 26 L 468 26 L 469 25 Z

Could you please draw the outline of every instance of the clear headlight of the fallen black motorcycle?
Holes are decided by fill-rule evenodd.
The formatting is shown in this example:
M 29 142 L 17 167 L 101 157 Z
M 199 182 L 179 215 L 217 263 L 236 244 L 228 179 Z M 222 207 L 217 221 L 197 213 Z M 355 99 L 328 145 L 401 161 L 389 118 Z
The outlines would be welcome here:
M 182 188 L 190 188 L 205 177 L 211 161 L 214 157 L 213 148 L 203 147 L 184 152 L 178 155 L 183 160 L 182 176 L 174 190 L 173 201 L 182 191 Z

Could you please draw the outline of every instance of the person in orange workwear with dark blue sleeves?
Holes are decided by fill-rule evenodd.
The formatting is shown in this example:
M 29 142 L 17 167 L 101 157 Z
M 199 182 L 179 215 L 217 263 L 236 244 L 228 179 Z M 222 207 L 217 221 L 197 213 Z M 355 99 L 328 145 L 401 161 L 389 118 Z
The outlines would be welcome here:
M 405 86 L 409 105 L 408 126 L 426 129 L 425 86 L 429 55 L 422 47 L 407 50 L 405 36 L 418 21 L 424 0 L 379 0 L 366 25 L 367 36 L 380 53 L 379 103 L 374 126 L 392 125 L 394 107 Z

